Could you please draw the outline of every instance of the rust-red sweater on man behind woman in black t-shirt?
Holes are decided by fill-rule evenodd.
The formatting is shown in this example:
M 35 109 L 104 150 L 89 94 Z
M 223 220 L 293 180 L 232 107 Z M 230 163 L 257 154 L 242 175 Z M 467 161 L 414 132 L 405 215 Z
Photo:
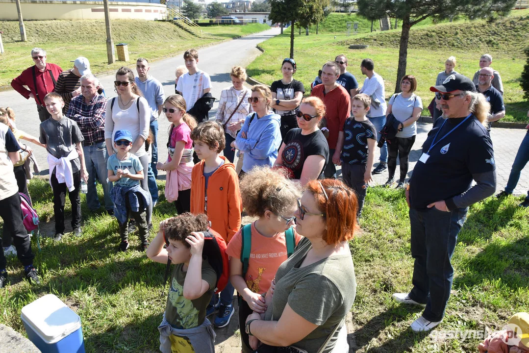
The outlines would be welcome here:
M 343 131 L 345 120 L 351 115 L 351 96 L 342 86 L 323 94 L 325 85 L 317 85 L 312 89 L 312 96 L 322 99 L 325 103 L 325 119 L 329 129 L 329 148 L 335 149 L 338 142 L 338 132 Z

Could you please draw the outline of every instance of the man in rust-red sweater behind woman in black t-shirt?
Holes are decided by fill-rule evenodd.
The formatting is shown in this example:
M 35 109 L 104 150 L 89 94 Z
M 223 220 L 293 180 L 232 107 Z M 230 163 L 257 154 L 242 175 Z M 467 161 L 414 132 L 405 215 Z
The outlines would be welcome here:
M 342 85 L 336 83 L 340 77 L 340 68 L 334 61 L 327 61 L 322 68 L 322 85 L 314 86 L 312 95 L 325 103 L 325 119 L 329 129 L 329 156 L 332 161 L 327 163 L 323 174 L 326 178 L 336 177 L 335 164 L 340 162 L 340 151 L 336 151 L 336 143 L 343 143 L 343 124 L 351 114 L 351 97 Z M 340 146 L 341 144 L 340 143 Z

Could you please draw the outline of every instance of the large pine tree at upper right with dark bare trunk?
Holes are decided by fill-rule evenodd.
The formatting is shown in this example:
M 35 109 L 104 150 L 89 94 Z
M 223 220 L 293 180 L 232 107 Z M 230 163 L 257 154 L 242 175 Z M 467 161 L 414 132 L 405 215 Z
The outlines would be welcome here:
M 505 15 L 513 8 L 516 0 L 358 0 L 358 13 L 369 19 L 389 16 L 402 20 L 400 32 L 397 84 L 395 93 L 400 92 L 400 79 L 406 75 L 409 30 L 428 17 L 434 20 L 465 15 L 469 19 Z M 485 30 L 485 28 L 484 28 Z M 452 35 L 446 33 L 446 35 Z

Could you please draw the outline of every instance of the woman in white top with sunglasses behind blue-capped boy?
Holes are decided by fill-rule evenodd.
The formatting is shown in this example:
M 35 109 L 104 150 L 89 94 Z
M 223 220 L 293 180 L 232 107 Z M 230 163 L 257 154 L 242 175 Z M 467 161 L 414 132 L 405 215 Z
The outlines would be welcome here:
M 134 73 L 127 67 L 121 67 L 116 72 L 114 81 L 117 97 L 108 101 L 106 105 L 105 119 L 105 142 L 108 157 L 112 156 L 114 150 L 114 134 L 118 130 L 129 130 L 134 141 L 130 153 L 134 153 L 140 159 L 143 167 L 143 179 L 140 180 L 141 188 L 149 193 L 147 182 L 147 170 L 149 170 L 150 159 L 145 150 L 145 140 L 149 137 L 150 108 L 147 99 L 143 98 L 141 91 L 134 83 Z M 151 197 L 149 197 L 151 198 Z M 147 224 L 151 225 L 152 200 L 147 206 Z

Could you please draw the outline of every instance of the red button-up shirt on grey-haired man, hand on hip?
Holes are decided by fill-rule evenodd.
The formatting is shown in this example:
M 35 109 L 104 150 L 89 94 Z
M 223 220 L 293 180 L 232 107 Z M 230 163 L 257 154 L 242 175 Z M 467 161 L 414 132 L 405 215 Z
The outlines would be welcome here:
M 33 80 L 33 68 L 35 68 L 35 78 L 37 81 L 37 87 L 35 87 Z M 11 87 L 13 87 L 16 92 L 23 95 L 26 99 L 30 97 L 30 93 L 33 93 L 35 96 L 35 102 L 39 105 L 44 105 L 44 96 L 50 92 L 53 92 L 55 85 L 51 79 L 51 74 L 57 82 L 62 69 L 59 65 L 55 64 L 46 64 L 46 69 L 44 72 L 40 71 L 36 66 L 29 67 L 22 71 L 19 77 L 11 81 Z M 26 89 L 24 86 L 28 86 L 29 89 Z

